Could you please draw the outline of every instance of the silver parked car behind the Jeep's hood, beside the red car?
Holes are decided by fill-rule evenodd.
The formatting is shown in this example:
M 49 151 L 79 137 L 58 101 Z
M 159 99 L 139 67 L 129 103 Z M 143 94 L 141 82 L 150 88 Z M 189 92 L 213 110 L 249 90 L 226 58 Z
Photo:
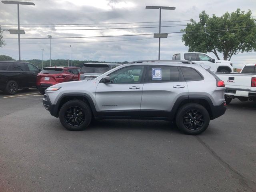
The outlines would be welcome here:
M 118 63 L 85 63 L 78 75 L 78 80 L 92 80 L 120 65 Z

